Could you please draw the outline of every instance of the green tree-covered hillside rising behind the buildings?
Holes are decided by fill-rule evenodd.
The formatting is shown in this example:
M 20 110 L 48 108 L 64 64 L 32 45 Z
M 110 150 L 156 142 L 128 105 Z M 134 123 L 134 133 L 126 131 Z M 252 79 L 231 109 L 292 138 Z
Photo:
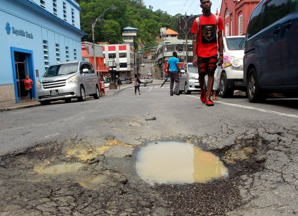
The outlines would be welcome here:
M 177 16 L 171 16 L 162 10 L 147 8 L 142 0 L 79 0 L 81 30 L 88 33 L 82 41 L 92 42 L 91 22 L 94 22 L 107 8 L 116 6 L 116 10 L 107 10 L 94 27 L 95 41 L 107 41 L 110 44 L 123 43 L 121 30 L 126 26 L 138 28 L 135 48 L 157 43 L 161 27 L 177 31 Z

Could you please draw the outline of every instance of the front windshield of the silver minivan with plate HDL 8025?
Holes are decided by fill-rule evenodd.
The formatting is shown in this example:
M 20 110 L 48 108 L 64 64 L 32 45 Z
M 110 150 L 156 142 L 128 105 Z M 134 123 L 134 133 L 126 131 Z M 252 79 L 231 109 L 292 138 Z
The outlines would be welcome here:
M 44 77 L 59 76 L 77 72 L 78 63 L 52 65 L 46 70 Z

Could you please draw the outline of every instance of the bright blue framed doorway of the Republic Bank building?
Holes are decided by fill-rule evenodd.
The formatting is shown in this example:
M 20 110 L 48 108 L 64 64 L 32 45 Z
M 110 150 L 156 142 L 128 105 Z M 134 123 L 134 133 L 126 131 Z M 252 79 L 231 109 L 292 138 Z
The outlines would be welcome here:
M 19 103 L 25 99 L 26 92 L 24 86 L 25 76 L 29 75 L 32 79 L 32 98 L 36 99 L 35 73 L 33 64 L 33 51 L 10 47 L 11 62 L 13 66 L 13 82 L 15 85 L 15 102 Z

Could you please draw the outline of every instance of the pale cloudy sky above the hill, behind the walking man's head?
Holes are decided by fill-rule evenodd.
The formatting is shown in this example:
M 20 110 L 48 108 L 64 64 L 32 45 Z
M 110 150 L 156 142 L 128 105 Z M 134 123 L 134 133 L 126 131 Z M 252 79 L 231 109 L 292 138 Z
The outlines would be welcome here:
M 149 5 L 153 6 L 153 11 L 160 9 L 163 11 L 167 11 L 167 13 L 170 15 L 176 15 L 177 13 L 185 14 L 186 11 L 187 11 L 187 15 L 190 15 L 190 14 L 195 15 L 195 14 L 202 13 L 202 9 L 200 7 L 200 0 L 143 0 L 143 1 L 147 7 L 149 7 Z M 220 12 L 220 6 L 221 6 L 221 0 L 212 0 L 211 12 L 214 13 L 216 11 L 216 8 L 218 8 L 218 12 Z

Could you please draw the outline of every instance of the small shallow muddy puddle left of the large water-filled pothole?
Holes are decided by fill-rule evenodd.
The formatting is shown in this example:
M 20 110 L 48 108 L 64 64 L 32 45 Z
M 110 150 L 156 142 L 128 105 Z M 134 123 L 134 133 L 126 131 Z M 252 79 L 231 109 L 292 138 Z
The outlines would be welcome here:
M 44 169 L 40 169 L 39 173 L 41 174 L 62 174 L 66 172 L 75 172 L 84 166 L 82 163 L 66 163 L 66 164 L 58 164 L 46 167 Z

